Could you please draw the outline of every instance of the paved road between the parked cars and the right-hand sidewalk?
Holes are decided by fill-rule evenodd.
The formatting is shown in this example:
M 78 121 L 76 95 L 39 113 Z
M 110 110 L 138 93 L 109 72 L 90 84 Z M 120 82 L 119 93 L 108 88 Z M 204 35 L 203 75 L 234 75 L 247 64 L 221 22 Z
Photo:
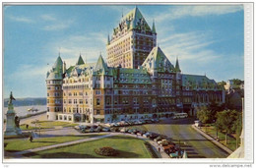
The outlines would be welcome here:
M 180 146 L 187 151 L 189 158 L 227 157 L 228 153 L 191 128 L 193 121 L 193 119 L 179 119 L 137 127 L 165 135 L 176 144 L 179 144 L 180 140 Z

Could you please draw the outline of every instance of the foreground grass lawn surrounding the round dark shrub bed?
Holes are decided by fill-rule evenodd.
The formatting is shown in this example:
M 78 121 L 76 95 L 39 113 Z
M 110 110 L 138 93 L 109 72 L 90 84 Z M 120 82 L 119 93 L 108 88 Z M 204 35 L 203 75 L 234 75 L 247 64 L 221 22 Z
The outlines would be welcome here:
M 39 151 L 26 155 L 32 158 L 152 158 L 144 140 L 115 136 L 101 140 L 87 141 L 80 144 Z M 110 146 L 118 151 L 116 156 L 101 156 L 95 149 Z

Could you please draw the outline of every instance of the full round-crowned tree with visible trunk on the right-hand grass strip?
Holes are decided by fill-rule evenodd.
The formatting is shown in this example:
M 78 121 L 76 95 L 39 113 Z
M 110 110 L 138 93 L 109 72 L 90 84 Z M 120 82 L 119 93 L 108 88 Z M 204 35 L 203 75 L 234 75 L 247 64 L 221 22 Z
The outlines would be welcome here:
M 233 125 L 237 120 L 237 111 L 224 110 L 217 113 L 216 127 L 225 132 L 225 144 L 227 144 L 227 135 L 233 131 Z

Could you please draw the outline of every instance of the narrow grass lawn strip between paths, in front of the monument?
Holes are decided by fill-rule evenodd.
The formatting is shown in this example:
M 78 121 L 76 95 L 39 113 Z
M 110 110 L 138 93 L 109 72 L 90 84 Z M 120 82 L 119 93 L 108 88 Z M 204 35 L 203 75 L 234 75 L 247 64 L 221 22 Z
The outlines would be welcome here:
M 7 143 L 5 150 L 10 152 L 16 152 L 21 150 L 27 150 L 31 148 L 36 148 L 40 146 L 52 145 L 66 141 L 73 141 L 73 140 L 81 140 L 87 138 L 93 138 L 96 136 L 102 136 L 103 134 L 98 135 L 85 135 L 85 136 L 68 136 L 68 137 L 54 137 L 54 138 L 39 138 L 29 141 L 28 139 L 22 140 L 4 140 L 4 143 Z

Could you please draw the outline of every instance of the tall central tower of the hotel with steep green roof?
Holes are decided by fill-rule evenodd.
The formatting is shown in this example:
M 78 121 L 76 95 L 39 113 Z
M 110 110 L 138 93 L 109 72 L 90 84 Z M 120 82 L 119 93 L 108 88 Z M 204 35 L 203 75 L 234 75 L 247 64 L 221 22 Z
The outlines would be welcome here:
M 124 16 L 113 34 L 107 38 L 106 53 L 109 67 L 137 69 L 157 45 L 155 23 L 150 28 L 136 7 Z

